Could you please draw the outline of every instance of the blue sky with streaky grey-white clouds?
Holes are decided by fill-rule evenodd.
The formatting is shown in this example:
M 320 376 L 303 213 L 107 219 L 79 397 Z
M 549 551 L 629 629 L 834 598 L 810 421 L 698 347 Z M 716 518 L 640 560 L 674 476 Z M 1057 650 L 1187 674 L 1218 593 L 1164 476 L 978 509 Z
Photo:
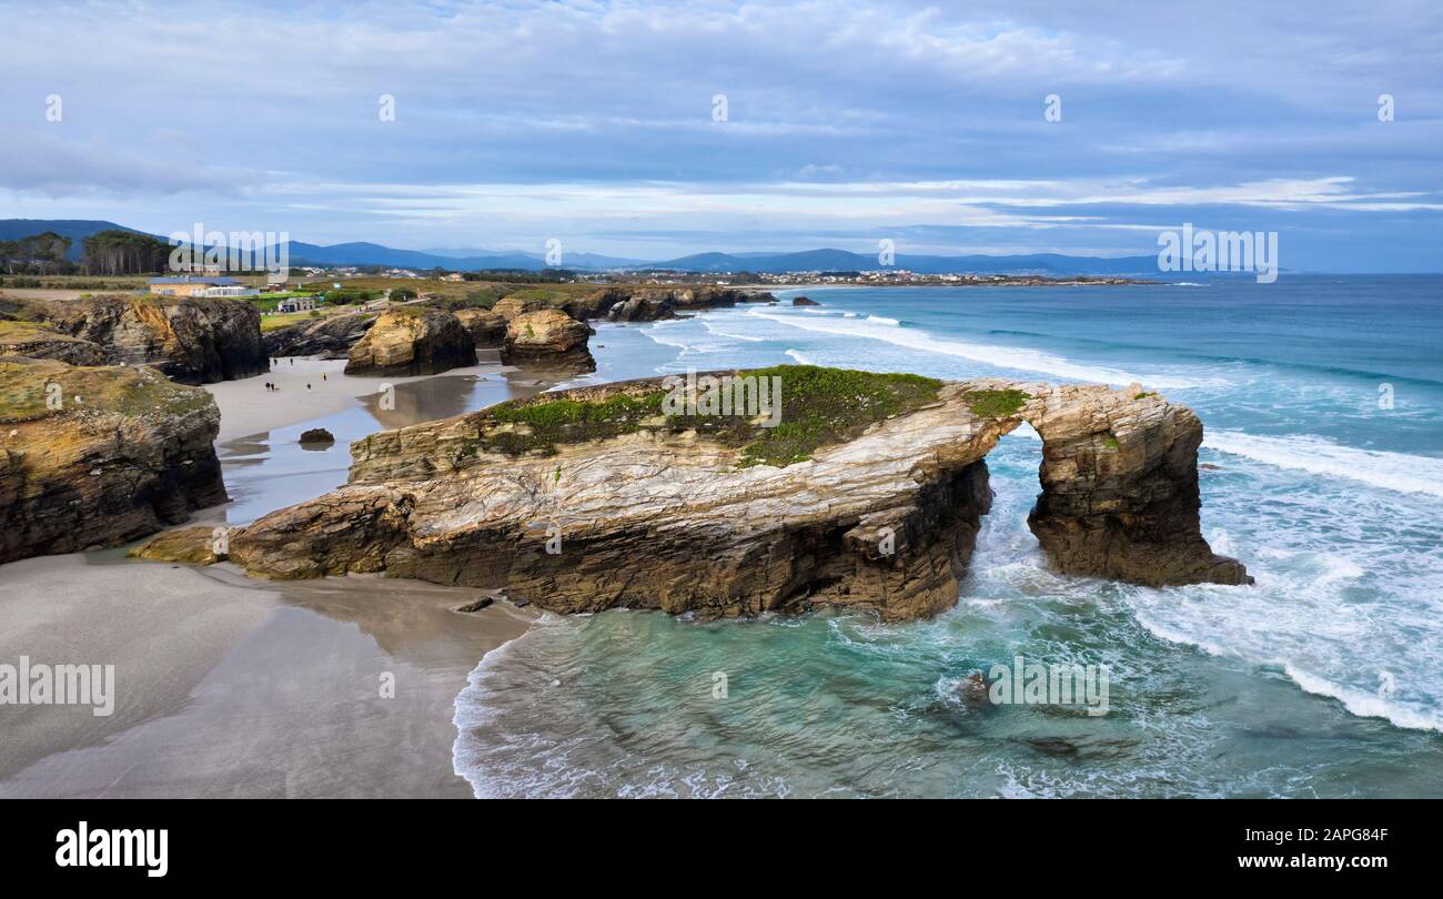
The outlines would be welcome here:
M 0 218 L 651 260 L 1139 255 L 1190 222 L 1276 231 L 1284 270 L 1443 271 L 1437 0 L 0 20 Z

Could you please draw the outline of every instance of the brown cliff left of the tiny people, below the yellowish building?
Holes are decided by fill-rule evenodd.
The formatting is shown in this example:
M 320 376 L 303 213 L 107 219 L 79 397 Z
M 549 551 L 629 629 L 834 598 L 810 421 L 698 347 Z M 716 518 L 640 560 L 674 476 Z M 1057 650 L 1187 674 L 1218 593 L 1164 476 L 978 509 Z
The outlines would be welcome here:
M 261 315 L 247 302 L 102 296 L 55 304 L 56 326 L 105 349 L 111 365 L 154 365 L 182 384 L 212 384 L 270 368 Z

